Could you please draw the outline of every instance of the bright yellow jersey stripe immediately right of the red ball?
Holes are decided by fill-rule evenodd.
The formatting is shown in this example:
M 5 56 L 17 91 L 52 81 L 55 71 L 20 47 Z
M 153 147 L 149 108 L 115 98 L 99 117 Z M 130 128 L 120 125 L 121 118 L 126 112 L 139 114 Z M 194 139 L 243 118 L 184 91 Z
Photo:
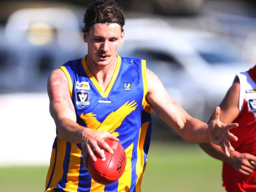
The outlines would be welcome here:
M 124 168 L 124 173 L 120 177 L 118 181 L 118 192 L 128 191 L 131 188 L 132 181 L 132 150 L 134 148 L 134 143 L 130 144 L 128 148 L 126 148 L 126 166 Z

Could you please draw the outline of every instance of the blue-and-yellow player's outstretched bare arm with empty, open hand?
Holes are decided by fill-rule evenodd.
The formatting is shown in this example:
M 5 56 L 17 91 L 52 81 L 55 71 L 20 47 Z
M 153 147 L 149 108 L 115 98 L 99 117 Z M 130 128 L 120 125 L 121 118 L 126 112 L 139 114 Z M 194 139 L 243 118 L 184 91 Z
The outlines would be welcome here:
M 202 143 L 213 141 L 225 148 L 225 145 L 232 150 L 226 137 L 237 139 L 236 136 L 229 133 L 228 129 L 236 127 L 237 124 L 222 124 L 219 122 L 220 109 L 215 110 L 215 116 L 209 126 L 191 117 L 178 103 L 176 103 L 163 87 L 160 79 L 147 69 L 148 93 L 147 101 L 158 116 L 171 126 L 183 139 Z M 224 149 L 223 149 L 224 150 Z

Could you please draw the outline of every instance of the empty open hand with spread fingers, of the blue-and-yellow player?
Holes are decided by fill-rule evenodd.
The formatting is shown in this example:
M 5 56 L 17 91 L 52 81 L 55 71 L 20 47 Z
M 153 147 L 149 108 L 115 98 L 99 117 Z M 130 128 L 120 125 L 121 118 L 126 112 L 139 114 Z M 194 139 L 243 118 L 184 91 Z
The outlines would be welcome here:
M 228 138 L 237 141 L 237 137 L 229 132 L 229 129 L 237 127 L 237 123 L 232 124 L 224 124 L 219 120 L 219 115 L 221 113 L 221 108 L 218 106 L 214 111 L 213 118 L 211 119 L 210 123 L 208 124 L 208 135 L 211 142 L 216 145 L 221 146 L 223 152 L 229 157 L 230 153 L 228 152 L 227 148 L 230 151 L 234 151 L 234 148 L 231 146 Z

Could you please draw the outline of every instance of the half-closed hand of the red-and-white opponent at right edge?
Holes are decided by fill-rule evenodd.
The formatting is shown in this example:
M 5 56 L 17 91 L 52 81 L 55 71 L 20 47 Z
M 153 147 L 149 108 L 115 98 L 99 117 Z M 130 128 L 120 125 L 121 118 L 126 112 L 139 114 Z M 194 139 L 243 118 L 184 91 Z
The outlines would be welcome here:
M 239 153 L 234 151 L 230 153 L 228 161 L 239 173 L 244 175 L 250 175 L 256 168 L 256 157 L 249 153 Z

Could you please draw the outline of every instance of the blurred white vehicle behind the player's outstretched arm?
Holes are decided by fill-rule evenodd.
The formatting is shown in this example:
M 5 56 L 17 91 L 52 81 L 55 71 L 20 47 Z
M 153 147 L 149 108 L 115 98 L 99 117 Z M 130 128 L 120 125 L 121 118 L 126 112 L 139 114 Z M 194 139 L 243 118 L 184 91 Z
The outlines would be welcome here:
M 172 98 L 207 121 L 238 72 L 249 65 L 234 45 L 204 31 L 173 28 L 160 19 L 127 19 L 122 56 L 147 59 Z

